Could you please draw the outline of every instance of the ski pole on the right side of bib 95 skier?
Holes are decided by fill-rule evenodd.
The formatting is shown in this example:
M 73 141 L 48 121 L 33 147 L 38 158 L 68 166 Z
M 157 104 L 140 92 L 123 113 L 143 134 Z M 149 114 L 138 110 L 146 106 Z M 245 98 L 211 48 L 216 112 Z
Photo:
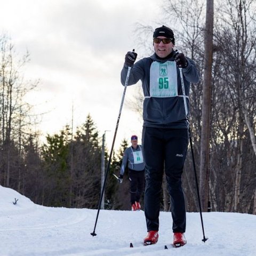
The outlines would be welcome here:
M 186 92 L 185 92 L 185 85 L 184 85 L 184 80 L 183 80 L 182 68 L 179 68 L 179 70 L 180 70 L 180 79 L 181 79 L 181 87 L 182 87 L 182 94 L 183 94 L 183 100 L 184 100 L 186 119 L 187 119 L 187 122 L 188 122 L 188 106 L 187 106 L 187 99 L 186 99 Z M 190 132 L 189 122 L 188 122 L 188 135 L 189 135 L 189 144 L 190 144 L 190 148 L 191 148 L 193 168 L 194 168 L 194 173 L 195 173 L 196 191 L 197 191 L 199 212 L 200 212 L 200 218 L 201 218 L 201 224 L 202 224 L 202 230 L 203 230 L 203 239 L 202 239 L 202 241 L 205 243 L 208 238 L 205 238 L 205 235 L 204 235 L 204 223 L 203 223 L 201 201 L 200 201 L 198 181 L 197 181 L 197 175 L 196 175 L 196 164 L 195 164 L 195 157 L 194 157 L 194 150 L 193 150 L 193 144 L 192 144 L 192 139 L 191 139 L 191 132 Z

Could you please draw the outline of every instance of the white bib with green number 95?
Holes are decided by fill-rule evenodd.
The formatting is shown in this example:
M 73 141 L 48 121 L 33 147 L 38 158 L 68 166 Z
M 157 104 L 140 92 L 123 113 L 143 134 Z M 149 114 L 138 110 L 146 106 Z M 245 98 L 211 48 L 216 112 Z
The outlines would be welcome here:
M 150 67 L 150 97 L 178 96 L 177 67 L 174 61 L 154 61 Z

